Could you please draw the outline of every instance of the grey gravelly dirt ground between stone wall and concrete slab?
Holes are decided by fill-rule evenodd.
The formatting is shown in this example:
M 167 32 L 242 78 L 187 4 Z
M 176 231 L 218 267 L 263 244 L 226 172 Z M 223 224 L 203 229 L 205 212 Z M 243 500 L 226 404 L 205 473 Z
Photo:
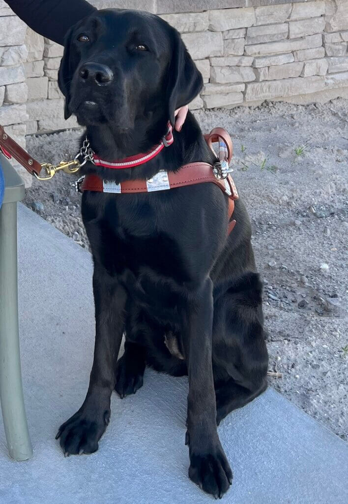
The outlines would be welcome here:
M 196 111 L 234 140 L 234 180 L 264 281 L 269 383 L 348 438 L 348 101 Z M 40 161 L 78 151 L 81 131 L 28 137 Z M 25 204 L 88 248 L 73 177 L 34 181 Z M 279 373 L 279 374 L 278 374 Z

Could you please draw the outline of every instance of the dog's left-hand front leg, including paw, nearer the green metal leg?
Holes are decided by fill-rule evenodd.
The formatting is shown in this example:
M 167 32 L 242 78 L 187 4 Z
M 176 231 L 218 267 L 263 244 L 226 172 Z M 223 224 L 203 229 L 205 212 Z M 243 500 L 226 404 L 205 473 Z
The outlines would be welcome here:
M 63 423 L 56 438 L 65 455 L 93 453 L 110 420 L 114 368 L 123 333 L 124 288 L 96 266 L 93 275 L 96 315 L 94 360 L 86 399 L 75 415 Z

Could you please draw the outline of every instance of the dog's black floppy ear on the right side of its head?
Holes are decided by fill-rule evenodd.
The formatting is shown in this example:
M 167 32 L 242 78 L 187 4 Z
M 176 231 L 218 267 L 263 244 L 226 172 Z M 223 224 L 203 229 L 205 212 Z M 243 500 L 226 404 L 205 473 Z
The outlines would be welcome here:
M 172 59 L 168 75 L 168 112 L 174 126 L 175 110 L 187 105 L 203 87 L 203 79 L 197 70 L 179 33 L 172 28 Z

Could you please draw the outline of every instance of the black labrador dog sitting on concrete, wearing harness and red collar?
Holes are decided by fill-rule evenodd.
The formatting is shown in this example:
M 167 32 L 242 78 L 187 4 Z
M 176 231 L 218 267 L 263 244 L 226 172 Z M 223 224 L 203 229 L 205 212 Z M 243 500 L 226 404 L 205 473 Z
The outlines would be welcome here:
M 175 109 L 199 93 L 202 77 L 174 28 L 152 14 L 115 9 L 68 33 L 59 87 L 66 117 L 76 114 L 93 150 L 113 161 L 158 144 Z M 189 112 L 174 143 L 148 163 L 109 169 L 88 162 L 83 172 L 119 183 L 193 161 L 216 158 Z M 217 425 L 265 390 L 268 357 L 248 215 L 236 201 L 228 236 L 227 200 L 213 183 L 83 194 L 96 338 L 86 399 L 57 434 L 65 454 L 98 449 L 113 389 L 122 398 L 135 393 L 149 365 L 188 374 L 189 477 L 215 497 L 229 488 Z

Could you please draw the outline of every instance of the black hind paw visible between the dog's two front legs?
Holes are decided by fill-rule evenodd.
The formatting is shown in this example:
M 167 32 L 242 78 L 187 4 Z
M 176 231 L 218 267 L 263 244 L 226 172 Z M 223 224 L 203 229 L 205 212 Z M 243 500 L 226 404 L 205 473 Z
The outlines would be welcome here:
M 143 387 L 145 371 L 146 348 L 126 341 L 124 344 L 124 354 L 116 364 L 116 385 L 115 391 L 123 399 L 130 394 L 135 394 Z

